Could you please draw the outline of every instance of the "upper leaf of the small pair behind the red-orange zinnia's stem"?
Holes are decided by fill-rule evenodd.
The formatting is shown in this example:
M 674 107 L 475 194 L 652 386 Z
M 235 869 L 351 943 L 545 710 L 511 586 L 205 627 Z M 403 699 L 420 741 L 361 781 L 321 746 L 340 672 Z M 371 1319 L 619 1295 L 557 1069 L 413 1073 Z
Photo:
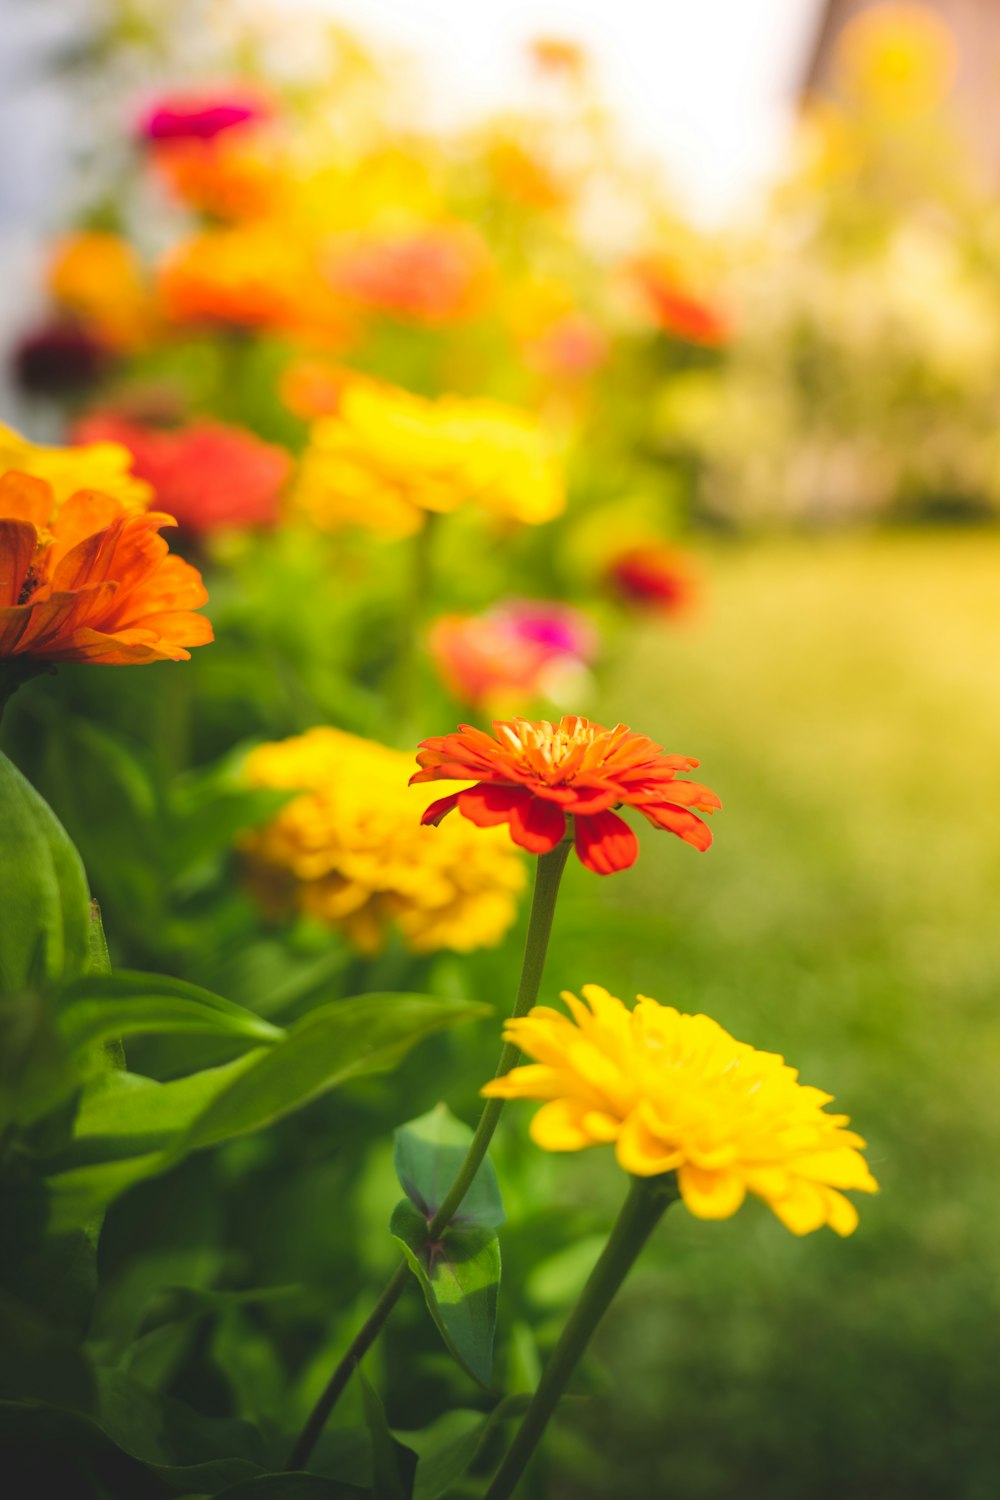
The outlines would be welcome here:
M 400 1125 L 393 1138 L 393 1161 L 399 1184 L 409 1202 L 430 1221 L 459 1176 L 472 1142 L 472 1131 L 456 1119 L 445 1104 L 438 1104 L 427 1114 Z M 451 1224 L 499 1228 L 502 1222 L 504 1202 L 499 1184 L 493 1162 L 484 1156 Z

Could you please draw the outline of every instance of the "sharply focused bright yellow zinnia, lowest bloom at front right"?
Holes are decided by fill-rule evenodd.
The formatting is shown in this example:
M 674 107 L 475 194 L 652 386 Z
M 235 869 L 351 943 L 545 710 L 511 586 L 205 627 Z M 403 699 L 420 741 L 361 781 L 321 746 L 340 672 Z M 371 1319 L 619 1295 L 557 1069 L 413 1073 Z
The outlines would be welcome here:
M 615 1143 L 625 1172 L 676 1172 L 697 1218 L 730 1218 L 747 1192 L 793 1234 L 829 1224 L 850 1234 L 858 1212 L 841 1191 L 876 1192 L 861 1136 L 832 1095 L 798 1082 L 772 1052 L 736 1041 L 708 1016 L 639 996 L 628 1011 L 600 984 L 586 1004 L 564 993 L 570 1020 L 537 1005 L 504 1035 L 537 1059 L 487 1083 L 502 1100 L 546 1100 L 531 1124 L 546 1150 Z

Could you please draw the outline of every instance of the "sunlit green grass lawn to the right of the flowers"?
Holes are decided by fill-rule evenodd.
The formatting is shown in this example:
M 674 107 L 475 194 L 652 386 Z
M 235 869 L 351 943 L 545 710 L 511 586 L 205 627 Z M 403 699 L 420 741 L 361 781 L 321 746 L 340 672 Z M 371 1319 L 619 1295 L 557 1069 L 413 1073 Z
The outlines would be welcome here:
M 882 1194 L 846 1242 L 757 1204 L 721 1226 L 673 1209 L 598 1341 L 604 1467 L 594 1418 L 564 1419 L 558 1492 L 987 1500 L 1000 538 L 768 543 L 708 570 L 700 616 L 643 627 L 600 717 L 700 758 L 715 846 L 646 830 L 633 872 L 571 870 L 547 986 L 642 990 L 784 1053 L 853 1116 Z M 610 1210 L 606 1154 L 540 1170 Z

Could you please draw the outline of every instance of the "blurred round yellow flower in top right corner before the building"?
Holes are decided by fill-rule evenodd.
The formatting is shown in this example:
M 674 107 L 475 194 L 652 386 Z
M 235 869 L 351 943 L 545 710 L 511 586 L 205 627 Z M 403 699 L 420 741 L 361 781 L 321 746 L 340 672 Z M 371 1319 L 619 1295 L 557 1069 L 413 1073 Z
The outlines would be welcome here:
M 948 26 L 927 6 L 886 3 L 844 27 L 837 62 L 847 88 L 862 100 L 919 114 L 948 96 L 957 50 Z

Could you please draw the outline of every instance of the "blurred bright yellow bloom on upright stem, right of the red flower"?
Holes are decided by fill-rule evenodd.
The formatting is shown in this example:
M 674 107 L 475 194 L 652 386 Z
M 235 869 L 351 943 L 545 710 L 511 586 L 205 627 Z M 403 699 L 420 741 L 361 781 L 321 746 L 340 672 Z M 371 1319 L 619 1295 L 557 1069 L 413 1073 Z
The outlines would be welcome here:
M 468 501 L 531 525 L 559 514 L 559 465 L 531 416 L 493 400 L 426 400 L 352 381 L 337 414 L 313 423 L 298 506 L 324 531 L 357 525 L 409 536 L 427 512 Z

